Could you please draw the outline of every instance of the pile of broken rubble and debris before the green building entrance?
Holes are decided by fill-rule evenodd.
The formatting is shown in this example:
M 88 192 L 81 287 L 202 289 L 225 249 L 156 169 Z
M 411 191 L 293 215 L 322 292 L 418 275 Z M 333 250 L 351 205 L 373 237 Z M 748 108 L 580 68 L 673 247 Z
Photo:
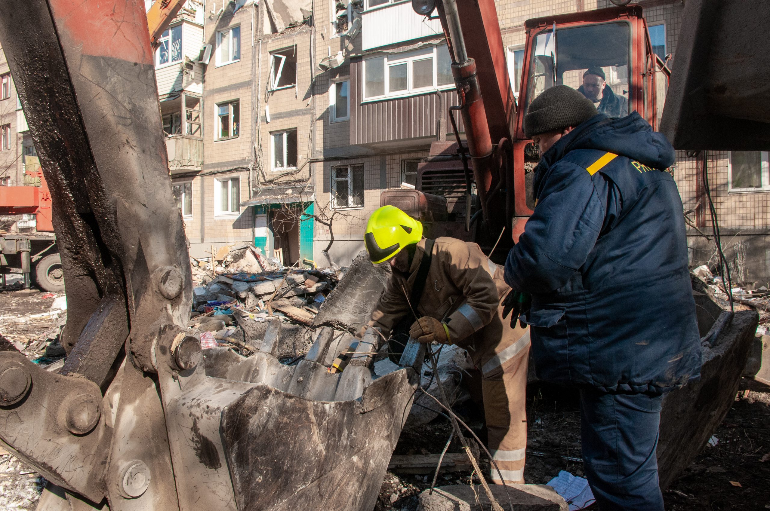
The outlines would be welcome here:
M 196 286 L 188 326 L 203 348 L 229 346 L 244 355 L 259 349 L 271 320 L 286 322 L 280 356 L 303 352 L 310 345 L 307 327 L 343 274 L 283 266 L 247 243 L 219 249 L 213 261 L 190 261 Z

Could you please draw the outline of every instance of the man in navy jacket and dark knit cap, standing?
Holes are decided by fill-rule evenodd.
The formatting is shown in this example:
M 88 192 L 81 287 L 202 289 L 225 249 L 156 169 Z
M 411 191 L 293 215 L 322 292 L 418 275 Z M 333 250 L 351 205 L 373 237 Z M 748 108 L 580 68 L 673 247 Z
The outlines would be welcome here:
M 566 85 L 531 102 L 524 133 L 541 161 L 505 266 L 511 320 L 531 326 L 537 376 L 580 389 L 599 508 L 662 511 L 661 398 L 701 367 L 674 149 L 637 112 L 608 119 Z

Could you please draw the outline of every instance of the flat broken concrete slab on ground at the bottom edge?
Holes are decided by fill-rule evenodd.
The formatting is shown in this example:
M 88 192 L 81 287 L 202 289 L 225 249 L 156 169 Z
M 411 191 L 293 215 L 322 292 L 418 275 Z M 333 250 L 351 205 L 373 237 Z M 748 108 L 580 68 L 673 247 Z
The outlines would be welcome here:
M 508 502 L 516 511 L 567 511 L 569 506 L 551 486 L 544 484 L 490 485 L 497 503 L 508 509 Z M 426 489 L 420 493 L 417 511 L 489 511 L 489 499 L 481 486 L 464 484 L 437 486 L 433 495 Z

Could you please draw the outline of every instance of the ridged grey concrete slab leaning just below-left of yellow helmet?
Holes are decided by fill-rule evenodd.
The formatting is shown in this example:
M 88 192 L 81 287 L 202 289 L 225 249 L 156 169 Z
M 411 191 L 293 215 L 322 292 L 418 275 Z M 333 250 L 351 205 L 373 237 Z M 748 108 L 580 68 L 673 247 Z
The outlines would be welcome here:
M 313 320 L 313 328 L 335 326 L 346 329 L 367 322 L 389 276 L 389 266 L 372 266 L 367 252 L 361 251 L 334 291 L 326 296 L 321 311 Z

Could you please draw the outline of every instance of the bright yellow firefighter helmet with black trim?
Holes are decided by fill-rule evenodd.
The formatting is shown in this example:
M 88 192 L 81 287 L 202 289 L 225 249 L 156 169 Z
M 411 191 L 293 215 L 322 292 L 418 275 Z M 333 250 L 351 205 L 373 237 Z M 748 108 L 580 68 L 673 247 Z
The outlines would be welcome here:
M 407 245 L 423 237 L 423 225 L 393 205 L 376 209 L 367 222 L 363 237 L 373 265 L 390 261 Z

